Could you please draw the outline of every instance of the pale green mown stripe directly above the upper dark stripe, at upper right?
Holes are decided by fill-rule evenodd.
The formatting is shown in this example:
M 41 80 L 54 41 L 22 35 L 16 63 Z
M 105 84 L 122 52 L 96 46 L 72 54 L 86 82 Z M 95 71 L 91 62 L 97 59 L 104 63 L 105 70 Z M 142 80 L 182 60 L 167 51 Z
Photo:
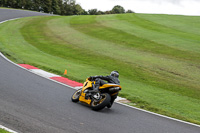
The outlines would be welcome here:
M 143 28 L 141 26 L 138 26 L 137 23 L 134 23 L 134 19 L 131 19 L 129 21 L 125 21 L 123 19 L 119 19 L 120 15 L 117 16 L 106 16 L 106 17 L 98 17 L 98 22 L 101 23 L 101 25 L 116 28 L 118 30 L 124 31 L 126 33 L 135 35 L 139 38 L 145 38 L 147 40 L 151 40 L 153 42 L 156 42 L 158 44 L 166 45 L 168 47 L 171 47 L 176 50 L 181 50 L 185 52 L 195 52 L 199 54 L 200 47 L 199 42 L 196 41 L 195 43 L 190 42 L 187 40 L 187 38 L 177 38 L 176 34 L 166 34 L 163 32 L 156 32 L 153 30 L 149 30 L 148 28 Z M 159 17 L 157 17 L 159 18 Z M 160 19 L 159 19 L 160 20 Z M 143 21 L 140 21 L 141 23 L 145 23 Z M 151 25 L 147 25 L 151 26 Z

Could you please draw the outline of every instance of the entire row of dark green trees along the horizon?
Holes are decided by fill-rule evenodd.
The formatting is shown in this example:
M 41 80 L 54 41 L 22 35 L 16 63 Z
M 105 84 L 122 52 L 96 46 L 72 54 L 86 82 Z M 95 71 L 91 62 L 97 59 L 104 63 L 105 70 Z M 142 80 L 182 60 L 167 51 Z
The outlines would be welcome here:
M 114 6 L 110 11 L 99 11 L 91 9 L 85 11 L 76 0 L 0 0 L 0 7 L 10 7 L 17 9 L 33 10 L 44 13 L 58 15 L 102 15 L 102 14 L 119 14 L 133 13 L 125 11 L 122 6 Z

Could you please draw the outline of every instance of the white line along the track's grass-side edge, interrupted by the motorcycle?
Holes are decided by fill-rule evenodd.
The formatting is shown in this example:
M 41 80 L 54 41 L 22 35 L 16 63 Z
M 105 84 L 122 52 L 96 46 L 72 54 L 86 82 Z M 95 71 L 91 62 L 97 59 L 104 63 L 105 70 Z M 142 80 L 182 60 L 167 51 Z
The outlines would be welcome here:
M 15 19 L 11 19 L 11 20 L 15 20 Z M 9 20 L 7 20 L 7 21 L 9 21 Z M 6 21 L 4 21 L 4 22 L 6 22 Z M 20 67 L 20 68 L 23 68 L 23 67 L 19 66 L 18 64 L 16 64 L 16 63 L 10 61 L 10 60 L 9 60 L 7 57 L 5 57 L 1 52 L 0 52 L 0 56 L 2 56 L 2 57 L 3 57 L 4 59 L 6 59 L 8 62 L 10 62 L 10 63 L 12 63 L 12 64 L 14 64 L 14 65 L 16 65 L 16 66 L 18 66 L 18 67 Z M 25 68 L 23 68 L 23 69 L 29 71 L 28 69 L 25 69 Z M 31 72 L 31 71 L 29 71 L 29 72 Z M 32 72 L 32 73 L 34 73 L 34 72 Z M 34 74 L 39 75 L 39 74 L 37 74 L 37 73 L 34 73 Z M 41 75 L 39 75 L 39 76 L 41 76 Z M 60 83 L 60 82 L 55 81 L 55 80 L 52 80 L 52 79 L 50 79 L 50 78 L 47 78 L 47 77 L 44 77 L 44 76 L 41 76 L 41 77 L 46 78 L 46 79 L 49 79 L 49 80 L 51 80 L 51 81 L 53 81 L 53 82 L 56 82 L 56 83 L 58 83 L 58 84 L 67 86 L 67 87 L 69 87 L 69 88 L 76 89 L 76 87 L 71 87 L 71 86 L 69 86 L 69 85 Z M 136 109 L 136 110 L 139 110 L 139 111 L 143 111 L 143 112 L 146 112 L 146 113 L 149 113 L 149 114 L 152 114 L 152 115 L 156 115 L 156 116 L 160 116 L 160 117 L 167 118 L 167 119 L 170 119 L 170 120 L 174 120 L 174 121 L 178 121 L 178 122 L 181 122 L 181 123 L 189 124 L 189 125 L 192 125 L 192 126 L 200 127 L 200 125 L 197 125 L 197 124 L 194 124 L 194 123 L 190 123 L 190 122 L 186 122 L 186 121 L 179 120 L 179 119 L 176 119 L 176 118 L 164 116 L 164 115 L 157 114 L 157 113 L 154 113 L 154 112 L 150 112 L 150 111 L 147 111 L 147 110 L 143 110 L 143 109 L 140 109 L 140 108 L 137 108 L 137 107 L 133 107 L 133 106 L 130 106 L 130 105 L 127 105 L 127 104 L 124 104 L 124 103 L 120 103 L 120 102 L 116 102 L 116 103 L 118 103 L 118 104 L 120 104 L 120 105 L 123 105 L 123 106 L 126 106 L 126 107 L 129 107 L 129 108 L 132 108 L 132 109 Z

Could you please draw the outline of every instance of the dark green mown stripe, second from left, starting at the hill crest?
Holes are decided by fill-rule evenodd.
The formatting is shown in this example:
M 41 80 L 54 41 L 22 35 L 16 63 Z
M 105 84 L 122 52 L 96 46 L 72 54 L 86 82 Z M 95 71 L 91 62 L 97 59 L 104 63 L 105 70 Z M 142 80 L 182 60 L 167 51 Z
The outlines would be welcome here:
M 82 18 L 82 20 L 80 19 Z M 89 23 L 84 24 L 87 19 L 94 19 Z M 194 60 L 200 61 L 200 54 L 192 53 L 190 51 L 183 51 L 175 49 L 155 41 L 144 39 L 143 37 L 138 37 L 133 34 L 129 34 L 122 30 L 105 27 L 98 24 L 95 21 L 95 17 L 74 17 L 70 20 L 71 26 L 76 30 L 83 32 L 84 34 L 96 37 L 101 40 L 106 40 L 115 43 L 116 45 L 127 46 L 128 48 L 137 48 L 140 50 L 145 50 L 147 52 L 153 52 L 156 54 L 163 54 L 171 58 L 178 58 L 181 60 Z M 85 19 L 85 20 L 84 20 Z M 76 23 L 75 23 L 76 22 Z M 80 22 L 78 24 L 78 22 Z M 75 24 L 74 24 L 75 23 Z M 89 27 L 89 28 L 88 28 Z

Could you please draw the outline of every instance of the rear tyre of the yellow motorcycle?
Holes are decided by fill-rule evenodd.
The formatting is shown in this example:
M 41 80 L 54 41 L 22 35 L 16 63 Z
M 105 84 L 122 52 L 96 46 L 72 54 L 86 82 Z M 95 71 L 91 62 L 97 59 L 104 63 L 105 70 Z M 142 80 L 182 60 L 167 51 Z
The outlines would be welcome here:
M 101 97 L 102 97 L 101 100 L 99 101 L 93 100 L 91 102 L 91 107 L 93 110 L 95 111 L 101 110 L 110 103 L 111 97 L 108 93 L 101 94 Z

